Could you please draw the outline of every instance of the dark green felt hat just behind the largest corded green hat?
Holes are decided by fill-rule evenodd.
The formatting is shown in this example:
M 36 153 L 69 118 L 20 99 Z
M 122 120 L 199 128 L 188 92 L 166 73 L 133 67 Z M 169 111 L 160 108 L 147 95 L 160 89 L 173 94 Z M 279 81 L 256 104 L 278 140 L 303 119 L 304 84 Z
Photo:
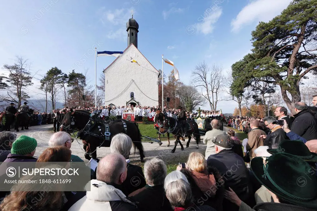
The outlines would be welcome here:
M 317 154 L 309 151 L 308 147 L 301 140 L 284 140 L 281 141 L 277 149 L 268 149 L 267 151 L 272 155 L 280 152 L 285 152 L 299 157 L 307 162 L 317 162 Z

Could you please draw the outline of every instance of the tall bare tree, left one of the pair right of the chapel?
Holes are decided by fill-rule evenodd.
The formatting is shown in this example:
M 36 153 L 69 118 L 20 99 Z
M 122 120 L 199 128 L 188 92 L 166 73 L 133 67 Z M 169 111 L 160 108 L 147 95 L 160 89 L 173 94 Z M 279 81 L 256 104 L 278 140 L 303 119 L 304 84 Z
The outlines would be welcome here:
M 201 95 L 209 102 L 210 109 L 212 110 L 213 104 L 211 103 L 209 96 L 210 71 L 211 70 L 205 61 L 199 62 L 195 66 L 195 69 L 191 71 L 191 84 L 193 84 L 196 87 L 199 87 L 199 89 L 201 90 Z

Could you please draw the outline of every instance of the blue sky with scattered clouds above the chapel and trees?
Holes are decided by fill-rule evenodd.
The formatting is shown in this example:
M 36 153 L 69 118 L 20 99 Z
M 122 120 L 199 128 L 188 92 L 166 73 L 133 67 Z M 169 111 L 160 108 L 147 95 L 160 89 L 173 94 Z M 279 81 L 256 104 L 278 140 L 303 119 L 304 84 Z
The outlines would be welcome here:
M 224 74 L 250 52 L 251 31 L 259 21 L 279 15 L 291 0 L 35 0 L 2 1 L 0 7 L 0 66 L 13 64 L 15 55 L 29 59 L 31 71 L 41 78 L 51 67 L 68 73 L 89 68 L 94 82 L 94 47 L 123 51 L 126 22 L 139 23 L 138 48 L 157 69 L 161 55 L 178 68 L 189 84 L 198 62 L 222 65 Z M 97 58 L 97 76 L 115 58 Z M 171 71 L 165 65 L 165 73 Z M 0 73 L 5 74 L 3 69 Z M 34 79 L 34 86 L 39 82 Z M 233 112 L 234 101 L 218 109 Z M 207 108 L 207 107 L 205 107 Z

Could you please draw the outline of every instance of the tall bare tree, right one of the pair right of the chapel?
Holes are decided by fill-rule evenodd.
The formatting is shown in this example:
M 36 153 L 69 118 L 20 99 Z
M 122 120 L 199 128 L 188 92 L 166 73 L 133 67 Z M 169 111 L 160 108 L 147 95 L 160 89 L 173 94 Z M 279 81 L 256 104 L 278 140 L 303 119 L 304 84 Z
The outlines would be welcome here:
M 210 93 L 211 93 L 211 100 L 212 100 L 212 110 L 217 110 L 217 102 L 220 101 L 218 99 L 218 94 L 220 91 L 222 91 L 222 88 L 224 86 L 224 77 L 222 74 L 223 67 L 219 65 L 213 64 L 210 72 L 210 82 L 209 87 L 210 87 Z

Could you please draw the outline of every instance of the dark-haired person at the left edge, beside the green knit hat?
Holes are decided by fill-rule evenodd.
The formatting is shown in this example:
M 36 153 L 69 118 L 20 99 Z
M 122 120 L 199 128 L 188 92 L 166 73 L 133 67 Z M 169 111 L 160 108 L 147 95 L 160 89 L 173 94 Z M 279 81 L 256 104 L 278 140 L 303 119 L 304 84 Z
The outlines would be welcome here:
M 12 143 L 16 140 L 16 134 L 10 131 L 0 132 L 0 162 L 7 159 L 11 153 Z

